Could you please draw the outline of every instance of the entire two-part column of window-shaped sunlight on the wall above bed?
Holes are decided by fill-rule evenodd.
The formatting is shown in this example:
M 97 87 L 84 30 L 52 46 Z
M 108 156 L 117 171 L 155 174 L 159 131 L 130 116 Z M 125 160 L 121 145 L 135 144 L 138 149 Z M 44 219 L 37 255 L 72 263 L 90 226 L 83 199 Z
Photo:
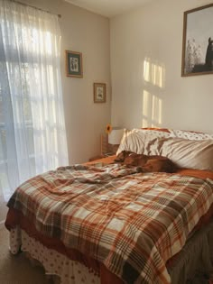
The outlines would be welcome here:
M 144 59 L 144 90 L 142 96 L 142 127 L 162 126 L 162 89 L 165 87 L 163 64 Z

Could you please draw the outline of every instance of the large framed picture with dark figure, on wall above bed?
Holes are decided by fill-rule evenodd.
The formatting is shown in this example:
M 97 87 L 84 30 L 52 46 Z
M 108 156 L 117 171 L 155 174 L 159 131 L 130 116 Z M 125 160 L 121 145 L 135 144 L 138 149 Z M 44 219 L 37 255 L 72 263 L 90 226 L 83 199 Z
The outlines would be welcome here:
M 213 74 L 213 4 L 184 12 L 181 76 Z

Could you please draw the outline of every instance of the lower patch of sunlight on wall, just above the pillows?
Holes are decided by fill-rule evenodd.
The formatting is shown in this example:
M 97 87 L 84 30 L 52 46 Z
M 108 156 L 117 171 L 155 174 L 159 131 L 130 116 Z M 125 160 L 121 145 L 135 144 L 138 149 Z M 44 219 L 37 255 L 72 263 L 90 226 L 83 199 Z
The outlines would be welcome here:
M 142 127 L 159 127 L 162 125 L 162 98 L 144 90 L 142 110 Z

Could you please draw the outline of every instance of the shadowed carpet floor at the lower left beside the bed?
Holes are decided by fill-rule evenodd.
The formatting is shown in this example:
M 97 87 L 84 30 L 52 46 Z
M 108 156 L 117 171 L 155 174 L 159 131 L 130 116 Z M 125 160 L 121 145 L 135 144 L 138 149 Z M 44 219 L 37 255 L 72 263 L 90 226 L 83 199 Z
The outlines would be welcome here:
M 42 267 L 33 267 L 23 255 L 9 251 L 9 233 L 0 229 L 0 283 L 1 284 L 49 284 Z

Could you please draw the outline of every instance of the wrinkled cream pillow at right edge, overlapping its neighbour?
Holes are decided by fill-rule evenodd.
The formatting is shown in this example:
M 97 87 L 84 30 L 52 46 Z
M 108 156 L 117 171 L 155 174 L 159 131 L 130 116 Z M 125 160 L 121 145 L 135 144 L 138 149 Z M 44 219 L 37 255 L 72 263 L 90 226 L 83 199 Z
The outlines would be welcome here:
M 180 168 L 213 170 L 213 140 L 162 138 L 155 143 L 160 154 Z

